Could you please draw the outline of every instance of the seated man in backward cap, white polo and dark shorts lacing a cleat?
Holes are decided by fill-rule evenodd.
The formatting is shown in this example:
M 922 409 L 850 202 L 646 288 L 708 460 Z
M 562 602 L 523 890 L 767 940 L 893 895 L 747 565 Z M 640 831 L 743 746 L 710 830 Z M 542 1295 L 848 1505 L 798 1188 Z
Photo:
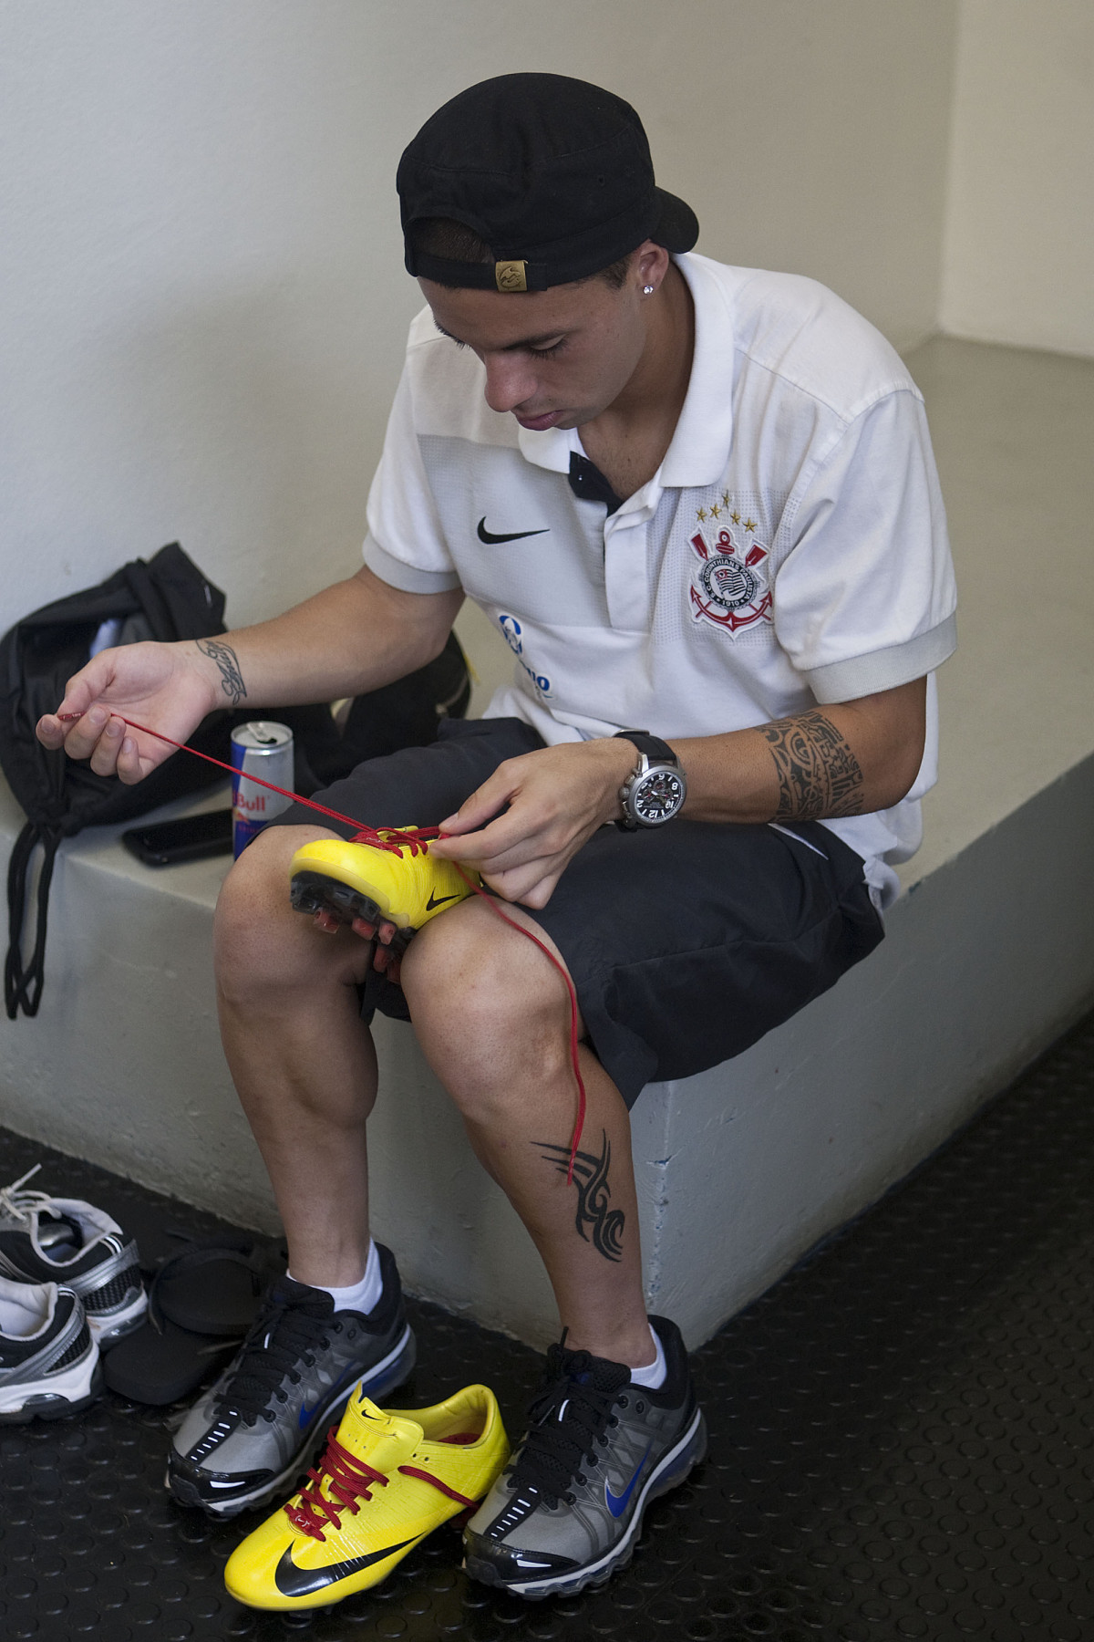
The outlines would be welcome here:
M 428 852 L 294 806 L 228 875 L 225 1053 L 290 1279 L 175 1433 L 169 1484 L 215 1516 L 276 1501 L 356 1383 L 382 1397 L 407 1373 L 367 1218 L 379 1008 L 413 1021 L 558 1299 L 528 1432 L 466 1530 L 469 1573 L 545 1596 L 623 1565 L 705 1445 L 679 1332 L 646 1317 L 628 1108 L 881 939 L 935 778 L 953 575 L 897 355 L 809 279 L 694 255 L 625 102 L 487 80 L 426 122 L 397 182 L 428 307 L 364 568 L 215 644 L 97 655 L 59 709 L 79 722 L 39 734 L 136 782 L 166 749 L 123 716 L 182 741 L 217 706 L 374 690 L 440 652 L 464 596 L 510 644 L 484 719 L 320 795 L 372 828 L 440 826 Z M 572 1167 L 551 957 L 579 1008 Z

